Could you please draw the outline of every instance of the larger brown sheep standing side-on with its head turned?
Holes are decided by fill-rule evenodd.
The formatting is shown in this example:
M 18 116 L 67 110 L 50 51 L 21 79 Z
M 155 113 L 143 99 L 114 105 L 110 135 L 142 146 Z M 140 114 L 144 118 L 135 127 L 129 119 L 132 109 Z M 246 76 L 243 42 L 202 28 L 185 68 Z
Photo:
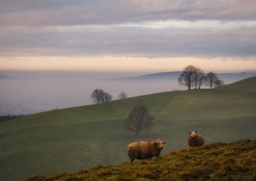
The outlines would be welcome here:
M 131 162 L 133 160 L 143 160 L 146 158 L 152 158 L 159 156 L 162 148 L 164 147 L 165 141 L 161 139 L 155 141 L 138 141 L 128 145 L 127 152 Z

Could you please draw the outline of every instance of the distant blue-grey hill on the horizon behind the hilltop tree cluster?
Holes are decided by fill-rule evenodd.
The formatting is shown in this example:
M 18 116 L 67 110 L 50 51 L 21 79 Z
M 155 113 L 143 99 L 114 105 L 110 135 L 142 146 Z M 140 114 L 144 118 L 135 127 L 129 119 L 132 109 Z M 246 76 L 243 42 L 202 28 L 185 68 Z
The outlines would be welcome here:
M 131 76 L 125 78 L 115 78 L 111 80 L 178 80 L 182 72 L 159 72 L 155 74 L 145 74 L 142 76 Z M 240 73 L 219 73 L 217 76 L 224 80 L 226 84 L 230 82 L 235 82 L 238 80 L 243 80 L 251 76 L 256 76 L 256 72 L 240 72 Z

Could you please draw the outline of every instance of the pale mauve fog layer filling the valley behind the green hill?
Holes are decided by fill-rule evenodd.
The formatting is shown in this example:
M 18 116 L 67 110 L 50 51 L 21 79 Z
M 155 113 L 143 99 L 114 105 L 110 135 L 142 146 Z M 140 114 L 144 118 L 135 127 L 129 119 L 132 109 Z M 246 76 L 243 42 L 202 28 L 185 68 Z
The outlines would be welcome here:
M 0 115 L 32 114 L 52 109 L 92 104 L 90 95 L 102 88 L 118 99 L 121 91 L 128 97 L 183 90 L 176 77 L 170 80 L 129 80 L 123 77 L 145 73 L 102 72 L 0 72 Z M 118 79 L 121 78 L 121 79 Z M 222 78 L 220 76 L 220 78 Z M 225 83 L 245 78 L 223 76 Z

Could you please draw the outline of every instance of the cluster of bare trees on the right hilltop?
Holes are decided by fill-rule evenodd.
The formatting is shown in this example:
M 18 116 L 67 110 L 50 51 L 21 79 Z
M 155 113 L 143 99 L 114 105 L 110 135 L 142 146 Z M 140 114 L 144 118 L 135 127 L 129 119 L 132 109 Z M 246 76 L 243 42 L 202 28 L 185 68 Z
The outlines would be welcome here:
M 212 89 L 215 86 L 223 84 L 223 81 L 220 80 L 214 72 L 205 74 L 201 68 L 197 68 L 193 65 L 184 68 L 179 76 L 178 82 L 180 85 L 187 86 L 188 90 L 200 89 L 203 85 L 210 86 Z

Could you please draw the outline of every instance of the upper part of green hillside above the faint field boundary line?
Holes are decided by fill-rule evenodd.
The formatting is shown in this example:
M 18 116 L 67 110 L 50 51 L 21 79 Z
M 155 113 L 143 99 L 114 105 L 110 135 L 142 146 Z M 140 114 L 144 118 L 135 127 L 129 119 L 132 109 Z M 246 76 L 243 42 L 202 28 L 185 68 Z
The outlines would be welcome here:
M 38 125 L 59 125 L 88 121 L 123 121 L 131 108 L 146 105 L 159 119 L 216 119 L 256 115 L 256 77 L 214 90 L 174 91 L 132 97 L 100 105 L 47 111 L 8 122 L 15 129 Z M 14 128 L 14 127 L 13 127 Z M 8 130 L 9 131 L 9 130 Z

